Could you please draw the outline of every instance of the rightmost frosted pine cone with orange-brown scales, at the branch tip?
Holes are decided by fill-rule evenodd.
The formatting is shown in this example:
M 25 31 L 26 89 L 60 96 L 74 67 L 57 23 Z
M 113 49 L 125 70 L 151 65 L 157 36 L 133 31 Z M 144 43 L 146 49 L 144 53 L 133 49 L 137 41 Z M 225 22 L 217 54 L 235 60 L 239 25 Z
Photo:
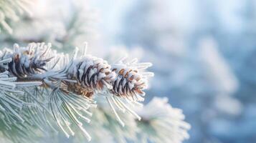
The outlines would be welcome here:
M 112 71 L 115 71 L 117 77 L 113 82 L 111 92 L 118 97 L 126 97 L 133 101 L 142 101 L 141 96 L 145 95 L 143 89 L 147 86 L 147 77 L 152 77 L 153 73 L 143 72 L 151 66 L 151 63 L 137 63 L 137 59 L 130 62 L 120 61 L 112 65 Z

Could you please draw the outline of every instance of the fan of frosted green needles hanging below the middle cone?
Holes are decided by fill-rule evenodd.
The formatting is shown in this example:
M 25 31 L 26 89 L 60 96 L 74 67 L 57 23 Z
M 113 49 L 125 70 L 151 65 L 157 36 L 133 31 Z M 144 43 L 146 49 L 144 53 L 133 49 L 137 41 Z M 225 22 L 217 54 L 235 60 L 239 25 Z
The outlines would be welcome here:
M 49 95 L 49 108 L 57 122 L 58 127 L 66 137 L 74 136 L 75 131 L 71 128 L 75 124 L 86 139 L 90 141 L 90 134 L 85 130 L 80 120 L 89 123 L 88 117 L 92 116 L 87 109 L 96 107 L 95 102 L 75 94 L 65 94 L 61 91 L 52 91 Z

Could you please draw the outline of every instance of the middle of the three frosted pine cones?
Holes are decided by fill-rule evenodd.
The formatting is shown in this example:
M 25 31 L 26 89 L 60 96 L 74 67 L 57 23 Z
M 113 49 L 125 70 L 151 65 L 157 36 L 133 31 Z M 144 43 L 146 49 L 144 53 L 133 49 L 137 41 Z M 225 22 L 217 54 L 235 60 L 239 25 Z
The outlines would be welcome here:
M 111 71 L 107 61 L 86 55 L 74 61 L 68 71 L 68 78 L 77 81 L 67 83 L 69 91 L 91 97 L 95 91 L 101 91 L 104 87 L 111 88 L 115 72 Z

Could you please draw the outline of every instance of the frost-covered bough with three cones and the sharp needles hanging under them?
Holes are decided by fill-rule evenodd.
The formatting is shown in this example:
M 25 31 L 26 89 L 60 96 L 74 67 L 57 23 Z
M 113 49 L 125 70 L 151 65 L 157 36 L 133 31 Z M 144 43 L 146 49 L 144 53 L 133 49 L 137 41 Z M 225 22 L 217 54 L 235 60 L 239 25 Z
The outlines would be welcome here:
M 75 134 L 70 128 L 71 120 L 88 140 L 90 135 L 79 119 L 90 122 L 82 113 L 91 116 L 87 109 L 95 107 L 94 96 L 105 96 L 116 119 L 124 126 L 115 109 L 130 112 L 141 119 L 127 103 L 141 104 L 147 79 L 153 76 L 153 73 L 145 71 L 151 64 L 138 63 L 137 59 L 120 59 L 117 63 L 108 64 L 108 61 L 86 54 L 86 50 L 82 55 L 75 50 L 70 59 L 68 55 L 52 50 L 51 44 L 44 43 L 25 47 L 14 44 L 14 49 L 1 51 L 0 57 L 7 61 L 0 64 L 1 73 L 8 72 L 8 76 L 14 77 L 17 83 L 42 82 L 39 88 L 49 91 L 43 93 L 48 93 L 52 117 L 67 137 Z

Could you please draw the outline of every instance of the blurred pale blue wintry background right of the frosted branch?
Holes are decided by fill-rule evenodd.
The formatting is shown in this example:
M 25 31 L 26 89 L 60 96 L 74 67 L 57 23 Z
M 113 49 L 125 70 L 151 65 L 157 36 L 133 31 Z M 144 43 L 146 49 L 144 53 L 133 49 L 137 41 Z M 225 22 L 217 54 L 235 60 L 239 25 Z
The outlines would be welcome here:
M 256 1 L 93 1 L 106 48 L 151 61 L 148 99 L 167 96 L 191 124 L 185 142 L 256 141 Z M 108 48 L 107 48 L 108 49 Z

